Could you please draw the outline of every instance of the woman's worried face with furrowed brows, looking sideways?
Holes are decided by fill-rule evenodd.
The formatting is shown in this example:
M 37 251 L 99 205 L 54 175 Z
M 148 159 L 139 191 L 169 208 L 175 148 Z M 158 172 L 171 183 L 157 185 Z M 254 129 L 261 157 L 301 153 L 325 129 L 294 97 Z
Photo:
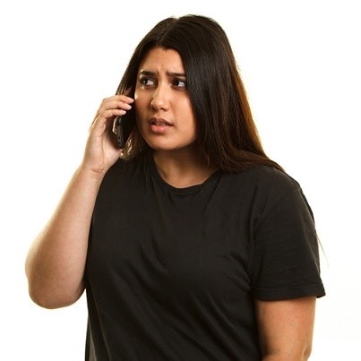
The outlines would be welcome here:
M 193 150 L 195 119 L 176 50 L 150 50 L 139 66 L 134 99 L 137 125 L 150 148 Z

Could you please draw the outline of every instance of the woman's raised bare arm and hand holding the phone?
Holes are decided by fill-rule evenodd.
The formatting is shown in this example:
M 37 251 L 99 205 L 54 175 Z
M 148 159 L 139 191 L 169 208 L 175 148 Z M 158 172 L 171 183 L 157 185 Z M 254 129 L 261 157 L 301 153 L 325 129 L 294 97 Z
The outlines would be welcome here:
M 99 186 L 119 158 L 111 127 L 133 99 L 104 99 L 90 126 L 82 164 L 76 170 L 54 215 L 30 246 L 25 262 L 31 299 L 46 308 L 72 305 L 84 291 L 83 275 L 90 222 Z

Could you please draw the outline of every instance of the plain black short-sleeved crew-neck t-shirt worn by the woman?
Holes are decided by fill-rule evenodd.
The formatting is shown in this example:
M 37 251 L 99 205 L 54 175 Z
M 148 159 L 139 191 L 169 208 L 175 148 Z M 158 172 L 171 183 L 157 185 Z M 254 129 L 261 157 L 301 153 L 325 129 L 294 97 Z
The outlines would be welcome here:
M 271 167 L 175 188 L 119 160 L 96 202 L 86 359 L 260 360 L 254 298 L 322 297 L 314 220 Z

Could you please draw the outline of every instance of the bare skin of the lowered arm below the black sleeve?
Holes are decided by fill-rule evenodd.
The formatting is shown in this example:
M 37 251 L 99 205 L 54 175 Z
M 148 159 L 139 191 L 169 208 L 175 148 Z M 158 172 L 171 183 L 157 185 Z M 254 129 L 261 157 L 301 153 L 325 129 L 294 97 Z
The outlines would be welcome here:
M 316 297 L 255 301 L 263 361 L 305 361 L 311 355 Z

